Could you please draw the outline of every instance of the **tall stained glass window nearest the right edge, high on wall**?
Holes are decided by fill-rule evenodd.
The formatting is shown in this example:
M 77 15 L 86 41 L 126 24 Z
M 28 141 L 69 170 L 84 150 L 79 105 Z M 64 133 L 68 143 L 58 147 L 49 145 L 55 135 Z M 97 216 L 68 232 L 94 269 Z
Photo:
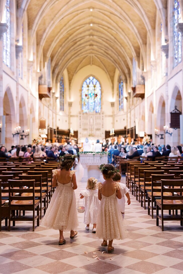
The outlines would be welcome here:
M 181 19 L 181 8 L 178 0 L 174 0 L 174 10 L 173 10 L 173 42 L 174 42 L 174 67 L 176 67 L 181 62 L 181 32 L 177 30 L 177 24 Z

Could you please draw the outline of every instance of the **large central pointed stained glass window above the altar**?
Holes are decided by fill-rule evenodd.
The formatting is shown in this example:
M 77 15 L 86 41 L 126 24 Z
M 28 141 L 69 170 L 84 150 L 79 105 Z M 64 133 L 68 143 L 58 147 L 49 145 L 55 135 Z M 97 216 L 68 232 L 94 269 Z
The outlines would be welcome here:
M 101 111 L 101 87 L 93 76 L 88 77 L 82 86 L 82 110 L 84 113 Z

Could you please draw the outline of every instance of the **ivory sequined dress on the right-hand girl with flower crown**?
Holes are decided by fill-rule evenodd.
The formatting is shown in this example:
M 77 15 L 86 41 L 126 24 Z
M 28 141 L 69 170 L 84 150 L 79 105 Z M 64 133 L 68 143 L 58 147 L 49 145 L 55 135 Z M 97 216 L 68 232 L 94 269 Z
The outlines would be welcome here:
M 98 189 L 102 194 L 102 199 L 98 209 L 96 228 L 96 236 L 99 239 L 122 240 L 126 238 L 127 235 L 127 230 L 125 228 L 123 217 L 120 212 L 116 197 L 116 191 L 117 189 L 120 189 L 119 183 L 116 183 L 114 188 L 114 194 L 106 197 L 101 192 L 102 183 L 98 184 Z

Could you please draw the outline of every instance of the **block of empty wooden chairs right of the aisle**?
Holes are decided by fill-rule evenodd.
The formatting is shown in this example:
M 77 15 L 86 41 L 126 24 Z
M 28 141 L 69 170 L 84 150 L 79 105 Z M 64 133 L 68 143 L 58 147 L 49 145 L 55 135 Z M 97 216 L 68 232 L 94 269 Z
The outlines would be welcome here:
M 136 196 L 136 200 L 141 202 L 141 206 L 146 209 L 148 202 L 148 215 L 150 210 L 152 218 L 156 209 L 157 225 L 159 219 L 162 221 L 162 231 L 164 230 L 164 210 L 171 210 L 173 217 L 166 218 L 167 220 L 180 220 L 181 226 L 183 221 L 183 163 L 174 162 L 149 162 L 143 163 L 138 161 L 127 162 L 126 184 L 131 189 L 132 194 Z M 172 190 L 174 189 L 174 190 Z M 176 192 L 175 192 L 176 189 Z M 167 199 L 165 199 L 165 197 Z M 167 202 L 168 200 L 168 202 Z M 159 216 L 161 209 L 161 217 Z M 174 215 L 176 210 L 176 216 Z M 180 210 L 180 215 L 178 215 Z

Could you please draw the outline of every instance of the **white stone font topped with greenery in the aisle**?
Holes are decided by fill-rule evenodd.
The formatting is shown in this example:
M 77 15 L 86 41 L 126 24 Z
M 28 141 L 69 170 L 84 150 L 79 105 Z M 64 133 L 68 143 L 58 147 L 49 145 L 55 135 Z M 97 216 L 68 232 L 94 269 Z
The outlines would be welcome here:
M 87 182 L 88 178 L 95 177 L 98 181 L 103 181 L 103 176 L 98 170 L 101 164 L 108 163 L 108 154 L 105 152 L 91 153 L 85 152 L 80 154 L 80 163 L 84 168 L 82 182 Z

